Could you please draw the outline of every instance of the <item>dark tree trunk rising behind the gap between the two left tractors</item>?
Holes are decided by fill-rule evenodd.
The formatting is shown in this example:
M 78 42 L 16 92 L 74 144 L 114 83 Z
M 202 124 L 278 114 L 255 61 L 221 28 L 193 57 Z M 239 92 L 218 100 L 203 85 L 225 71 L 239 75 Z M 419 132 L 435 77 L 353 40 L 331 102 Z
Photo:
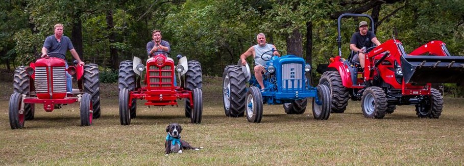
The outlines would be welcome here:
M 116 34 L 114 33 L 114 22 L 113 22 L 113 10 L 109 10 L 106 13 L 106 30 L 110 32 L 108 35 L 108 40 L 110 41 L 110 59 L 111 59 L 111 69 L 116 71 L 119 68 L 119 61 L 117 60 L 117 48 L 113 46 L 116 42 Z

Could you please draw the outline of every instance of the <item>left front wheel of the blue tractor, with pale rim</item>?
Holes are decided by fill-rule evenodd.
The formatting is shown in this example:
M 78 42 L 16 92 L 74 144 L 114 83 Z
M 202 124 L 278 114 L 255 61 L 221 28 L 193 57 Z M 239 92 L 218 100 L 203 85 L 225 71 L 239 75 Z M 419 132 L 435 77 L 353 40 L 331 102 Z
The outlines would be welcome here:
M 247 92 L 247 120 L 259 123 L 262 119 L 262 96 L 258 87 L 250 87 Z

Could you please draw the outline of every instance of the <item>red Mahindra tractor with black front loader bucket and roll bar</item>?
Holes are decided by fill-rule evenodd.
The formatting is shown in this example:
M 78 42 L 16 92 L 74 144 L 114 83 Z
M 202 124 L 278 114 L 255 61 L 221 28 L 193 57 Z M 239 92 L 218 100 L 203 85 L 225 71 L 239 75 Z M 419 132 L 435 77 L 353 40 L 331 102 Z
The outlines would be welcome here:
M 320 83 L 330 87 L 332 112 L 343 113 L 348 99 L 361 100 L 364 117 L 381 119 L 391 114 L 397 105 L 414 105 L 421 118 L 438 118 L 443 109 L 441 93 L 431 84 L 464 83 L 464 57 L 452 57 L 441 41 L 429 42 L 406 54 L 399 40 L 387 40 L 367 49 L 364 68 L 341 58 L 340 19 L 338 17 L 338 56 L 331 58 Z

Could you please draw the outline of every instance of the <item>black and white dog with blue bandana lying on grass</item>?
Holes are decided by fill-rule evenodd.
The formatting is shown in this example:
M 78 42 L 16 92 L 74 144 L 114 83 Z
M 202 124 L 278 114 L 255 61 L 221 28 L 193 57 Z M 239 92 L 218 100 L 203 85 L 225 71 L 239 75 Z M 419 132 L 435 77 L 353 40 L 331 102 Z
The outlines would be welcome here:
M 180 133 L 182 132 L 180 124 L 172 123 L 167 125 L 166 132 L 166 143 L 164 143 L 164 146 L 166 147 L 166 156 L 169 153 L 182 153 L 182 149 L 200 150 L 203 148 L 192 147 L 186 141 L 180 139 Z

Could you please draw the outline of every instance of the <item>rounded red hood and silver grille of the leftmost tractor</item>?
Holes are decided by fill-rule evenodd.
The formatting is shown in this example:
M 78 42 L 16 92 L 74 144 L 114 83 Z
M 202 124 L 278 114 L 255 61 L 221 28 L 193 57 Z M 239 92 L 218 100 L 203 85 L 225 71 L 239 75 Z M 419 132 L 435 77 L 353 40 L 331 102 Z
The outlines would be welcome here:
M 32 65 L 32 64 L 31 64 Z M 59 58 L 43 58 L 34 64 L 34 85 L 40 99 L 62 99 L 66 97 L 66 63 Z M 74 66 L 69 71 L 76 71 Z

